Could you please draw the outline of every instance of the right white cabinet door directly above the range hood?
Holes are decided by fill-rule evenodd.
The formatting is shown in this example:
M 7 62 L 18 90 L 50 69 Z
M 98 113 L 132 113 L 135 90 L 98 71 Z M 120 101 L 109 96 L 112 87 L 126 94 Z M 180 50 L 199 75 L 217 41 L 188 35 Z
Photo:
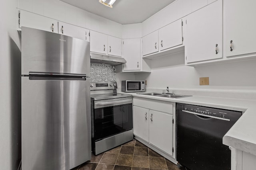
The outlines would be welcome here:
M 122 40 L 108 35 L 108 55 L 122 56 Z

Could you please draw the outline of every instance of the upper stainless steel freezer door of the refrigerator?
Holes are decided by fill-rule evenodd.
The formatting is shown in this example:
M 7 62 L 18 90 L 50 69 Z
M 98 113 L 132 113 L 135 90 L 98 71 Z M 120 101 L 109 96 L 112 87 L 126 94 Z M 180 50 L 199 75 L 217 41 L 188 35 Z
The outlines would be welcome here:
M 90 75 L 90 43 L 22 27 L 21 74 L 55 72 Z

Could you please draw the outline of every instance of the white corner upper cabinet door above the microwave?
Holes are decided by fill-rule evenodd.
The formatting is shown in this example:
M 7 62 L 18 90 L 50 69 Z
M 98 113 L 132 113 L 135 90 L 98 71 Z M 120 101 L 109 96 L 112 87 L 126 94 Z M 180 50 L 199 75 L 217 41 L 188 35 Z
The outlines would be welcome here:
M 123 40 L 124 70 L 140 70 L 140 39 Z

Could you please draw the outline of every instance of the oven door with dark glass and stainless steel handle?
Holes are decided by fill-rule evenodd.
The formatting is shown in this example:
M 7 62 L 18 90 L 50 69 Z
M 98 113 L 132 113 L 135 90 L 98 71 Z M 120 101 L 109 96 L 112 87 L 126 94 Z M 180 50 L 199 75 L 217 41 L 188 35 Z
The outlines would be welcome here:
M 106 137 L 132 129 L 132 98 L 93 101 L 92 138 Z

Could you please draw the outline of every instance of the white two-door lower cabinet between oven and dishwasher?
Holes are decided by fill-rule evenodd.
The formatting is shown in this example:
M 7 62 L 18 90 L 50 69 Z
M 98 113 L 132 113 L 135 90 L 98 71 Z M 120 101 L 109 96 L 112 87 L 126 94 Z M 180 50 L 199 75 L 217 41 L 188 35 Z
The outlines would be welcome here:
M 175 103 L 133 99 L 133 131 L 148 147 L 171 160 L 176 158 Z

